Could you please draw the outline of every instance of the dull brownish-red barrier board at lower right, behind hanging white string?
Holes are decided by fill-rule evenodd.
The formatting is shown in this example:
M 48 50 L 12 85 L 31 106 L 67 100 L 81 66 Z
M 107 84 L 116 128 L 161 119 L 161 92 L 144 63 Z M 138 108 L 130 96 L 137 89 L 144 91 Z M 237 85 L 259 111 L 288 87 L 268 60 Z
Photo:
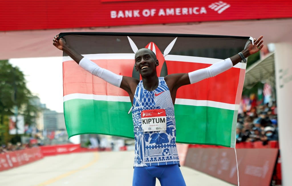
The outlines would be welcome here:
M 279 149 L 236 149 L 239 184 L 269 186 Z M 189 148 L 185 166 L 237 185 L 234 149 Z

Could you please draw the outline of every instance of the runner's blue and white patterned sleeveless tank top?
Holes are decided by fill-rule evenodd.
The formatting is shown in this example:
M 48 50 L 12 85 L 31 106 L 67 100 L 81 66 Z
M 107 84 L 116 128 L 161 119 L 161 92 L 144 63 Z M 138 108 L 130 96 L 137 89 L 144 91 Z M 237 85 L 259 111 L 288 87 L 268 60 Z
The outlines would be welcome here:
M 144 89 L 142 80 L 139 82 L 133 99 L 133 124 L 135 135 L 134 166 L 158 166 L 178 164 L 178 150 L 175 145 L 174 106 L 170 91 L 164 77 L 159 77 L 158 87 L 154 91 Z M 143 132 L 141 111 L 165 109 L 166 130 Z

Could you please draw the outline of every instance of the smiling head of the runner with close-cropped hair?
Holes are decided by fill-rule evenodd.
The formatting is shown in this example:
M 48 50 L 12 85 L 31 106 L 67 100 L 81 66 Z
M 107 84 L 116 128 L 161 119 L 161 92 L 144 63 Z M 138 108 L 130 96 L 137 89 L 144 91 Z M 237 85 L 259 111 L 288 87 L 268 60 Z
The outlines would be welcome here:
M 156 75 L 156 66 L 159 62 L 150 49 L 142 48 L 139 49 L 135 54 L 135 68 L 142 77 L 149 75 Z

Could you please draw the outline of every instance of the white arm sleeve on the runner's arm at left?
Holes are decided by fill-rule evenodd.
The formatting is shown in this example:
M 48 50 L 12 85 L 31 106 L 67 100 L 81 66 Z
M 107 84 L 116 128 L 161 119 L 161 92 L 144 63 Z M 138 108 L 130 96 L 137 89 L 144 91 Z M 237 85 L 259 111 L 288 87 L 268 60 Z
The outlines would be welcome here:
M 93 63 L 93 61 L 90 61 L 85 57 L 80 60 L 79 65 L 84 70 L 90 72 L 92 75 L 100 77 L 101 79 L 114 86 L 120 87 L 123 76 L 117 75 L 114 72 L 101 68 L 97 64 Z

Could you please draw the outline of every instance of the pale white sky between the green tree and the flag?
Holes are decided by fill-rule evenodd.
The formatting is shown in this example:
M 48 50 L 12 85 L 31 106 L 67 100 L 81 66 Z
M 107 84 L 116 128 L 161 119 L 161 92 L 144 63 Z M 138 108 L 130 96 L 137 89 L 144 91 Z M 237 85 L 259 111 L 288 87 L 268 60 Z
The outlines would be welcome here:
M 63 112 L 62 57 L 17 58 L 9 63 L 25 75 L 27 88 L 40 98 L 41 103 L 57 112 Z

